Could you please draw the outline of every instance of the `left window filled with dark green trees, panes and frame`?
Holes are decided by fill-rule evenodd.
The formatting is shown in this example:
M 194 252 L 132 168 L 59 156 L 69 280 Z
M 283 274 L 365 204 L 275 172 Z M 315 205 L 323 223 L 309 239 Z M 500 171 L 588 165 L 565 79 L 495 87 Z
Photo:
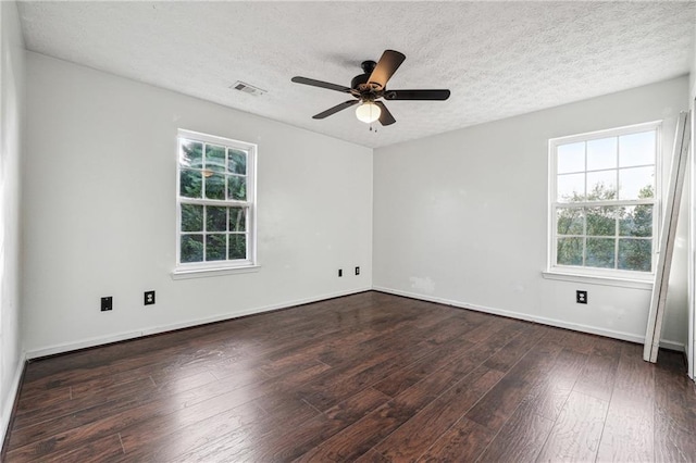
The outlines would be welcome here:
M 178 133 L 177 272 L 254 264 L 256 145 Z

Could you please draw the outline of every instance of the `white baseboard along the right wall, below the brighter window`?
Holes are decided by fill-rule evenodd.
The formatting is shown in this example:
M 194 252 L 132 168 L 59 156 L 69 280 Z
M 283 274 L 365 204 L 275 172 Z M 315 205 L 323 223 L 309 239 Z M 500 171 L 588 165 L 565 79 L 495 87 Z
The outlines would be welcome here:
M 436 302 L 445 305 L 451 305 L 460 309 L 469 309 L 476 312 L 485 312 L 494 315 L 507 316 L 509 318 L 524 320 L 526 322 L 535 322 L 540 323 L 542 325 L 555 326 L 557 328 L 567 328 L 572 329 L 574 331 L 589 333 L 592 335 L 605 336 L 607 338 L 621 339 L 624 341 L 644 343 L 645 336 L 634 335 L 625 331 L 618 331 L 613 329 L 599 328 L 596 326 L 582 325 L 579 323 L 564 322 L 562 320 L 557 318 L 547 318 L 544 316 L 529 315 L 520 312 L 512 312 L 504 309 L 495 309 L 488 308 L 484 305 L 470 304 L 467 302 L 453 301 L 451 299 L 437 298 L 434 296 L 419 295 L 417 292 L 401 291 L 399 289 L 385 288 L 381 286 L 373 286 L 372 289 L 375 291 L 387 292 L 396 296 L 403 296 L 411 299 L 420 299 L 422 301 Z M 660 347 L 664 349 L 675 350 L 680 352 L 685 352 L 686 346 L 683 342 L 670 341 L 670 340 L 661 340 Z

